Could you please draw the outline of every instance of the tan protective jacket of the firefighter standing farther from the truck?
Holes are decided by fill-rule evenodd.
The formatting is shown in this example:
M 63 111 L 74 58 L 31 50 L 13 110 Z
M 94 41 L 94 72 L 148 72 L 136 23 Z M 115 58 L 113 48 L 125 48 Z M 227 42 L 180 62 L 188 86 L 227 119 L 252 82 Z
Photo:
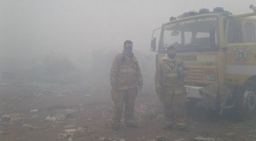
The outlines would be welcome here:
M 128 57 L 124 51 L 117 54 L 111 66 L 111 85 L 116 85 L 117 90 L 129 90 L 143 85 L 143 78 L 137 58 Z

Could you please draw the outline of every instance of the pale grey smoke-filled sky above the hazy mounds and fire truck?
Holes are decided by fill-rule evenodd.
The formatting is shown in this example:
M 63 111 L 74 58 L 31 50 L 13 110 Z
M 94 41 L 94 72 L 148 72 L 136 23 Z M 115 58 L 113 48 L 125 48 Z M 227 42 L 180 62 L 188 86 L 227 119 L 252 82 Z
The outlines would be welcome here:
M 29 57 L 63 51 L 70 56 L 96 49 L 150 51 L 151 33 L 170 16 L 200 8 L 252 12 L 255 0 L 0 0 L 1 56 Z

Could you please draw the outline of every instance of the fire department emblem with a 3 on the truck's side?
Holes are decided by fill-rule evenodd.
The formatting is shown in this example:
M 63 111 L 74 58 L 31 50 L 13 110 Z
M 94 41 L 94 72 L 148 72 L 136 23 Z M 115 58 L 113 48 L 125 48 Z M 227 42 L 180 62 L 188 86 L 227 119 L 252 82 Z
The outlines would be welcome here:
M 234 50 L 236 64 L 245 65 L 249 59 L 249 48 L 236 48 Z

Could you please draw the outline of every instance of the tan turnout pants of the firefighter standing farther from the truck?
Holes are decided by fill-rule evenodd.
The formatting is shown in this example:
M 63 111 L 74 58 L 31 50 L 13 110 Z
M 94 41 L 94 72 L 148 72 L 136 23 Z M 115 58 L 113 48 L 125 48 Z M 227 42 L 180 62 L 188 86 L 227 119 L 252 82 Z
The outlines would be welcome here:
M 134 103 L 138 95 L 138 88 L 129 90 L 111 90 L 111 99 L 113 100 L 113 124 L 119 124 L 122 118 L 123 106 L 125 104 L 125 121 L 134 121 Z

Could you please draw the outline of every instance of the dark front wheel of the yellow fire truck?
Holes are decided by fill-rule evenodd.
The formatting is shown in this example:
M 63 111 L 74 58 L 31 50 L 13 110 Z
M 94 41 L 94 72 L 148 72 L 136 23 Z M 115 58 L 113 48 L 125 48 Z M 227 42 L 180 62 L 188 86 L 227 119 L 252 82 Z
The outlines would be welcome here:
M 256 115 L 256 82 L 247 80 L 240 88 L 237 98 L 241 118 L 243 120 L 253 118 Z

